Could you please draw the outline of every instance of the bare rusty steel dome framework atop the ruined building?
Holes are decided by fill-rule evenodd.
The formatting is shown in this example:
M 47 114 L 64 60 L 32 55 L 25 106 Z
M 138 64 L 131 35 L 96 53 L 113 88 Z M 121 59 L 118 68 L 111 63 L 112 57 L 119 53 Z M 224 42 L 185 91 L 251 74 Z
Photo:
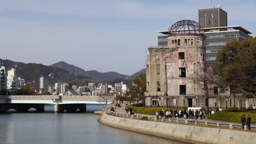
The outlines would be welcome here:
M 200 24 L 192 20 L 178 21 L 170 26 L 168 31 L 169 34 L 203 33 Z

